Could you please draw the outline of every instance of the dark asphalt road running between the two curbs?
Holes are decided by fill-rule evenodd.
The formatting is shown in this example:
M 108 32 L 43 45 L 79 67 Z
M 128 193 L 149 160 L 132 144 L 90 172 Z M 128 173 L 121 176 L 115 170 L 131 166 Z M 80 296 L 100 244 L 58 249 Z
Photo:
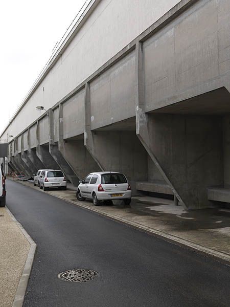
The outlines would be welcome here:
M 10 180 L 7 193 L 37 243 L 24 307 L 230 306 L 228 266 Z M 99 277 L 57 277 L 79 268 Z

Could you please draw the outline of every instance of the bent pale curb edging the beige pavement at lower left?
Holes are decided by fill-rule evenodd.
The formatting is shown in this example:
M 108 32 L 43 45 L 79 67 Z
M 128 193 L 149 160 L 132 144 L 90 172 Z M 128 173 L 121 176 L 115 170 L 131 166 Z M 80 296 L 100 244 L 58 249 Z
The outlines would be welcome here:
M 15 224 L 20 228 L 21 232 L 24 234 L 24 236 L 27 238 L 27 240 L 30 243 L 30 250 L 27 256 L 25 267 L 21 274 L 21 278 L 19 280 L 17 291 L 14 297 L 14 302 L 12 304 L 12 307 L 22 307 L 37 245 L 34 242 L 34 240 L 31 238 L 31 236 L 22 227 L 22 225 L 19 222 L 17 222 L 16 218 L 14 217 L 14 215 L 11 213 L 11 211 L 7 207 L 6 207 L 6 211 L 10 215 L 12 220 L 15 222 Z

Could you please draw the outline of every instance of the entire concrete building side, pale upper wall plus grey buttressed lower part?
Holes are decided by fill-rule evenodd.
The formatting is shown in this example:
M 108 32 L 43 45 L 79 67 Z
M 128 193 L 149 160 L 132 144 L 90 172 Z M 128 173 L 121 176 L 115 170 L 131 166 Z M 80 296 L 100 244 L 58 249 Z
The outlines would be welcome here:
M 36 153 L 75 185 L 112 168 L 135 194 L 160 181 L 186 209 L 230 203 L 229 20 L 228 0 L 92 1 L 2 134 L 9 163 L 31 174 Z M 51 109 L 29 120 L 38 101 Z

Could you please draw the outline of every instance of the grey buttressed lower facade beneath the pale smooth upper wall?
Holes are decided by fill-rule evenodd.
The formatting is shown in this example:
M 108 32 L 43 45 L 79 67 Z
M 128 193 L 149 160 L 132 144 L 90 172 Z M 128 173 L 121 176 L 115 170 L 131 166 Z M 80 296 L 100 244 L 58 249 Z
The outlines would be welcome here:
M 122 171 L 134 193 L 174 194 L 188 209 L 213 206 L 217 188 L 230 202 L 229 10 L 227 0 L 180 1 L 18 131 L 10 162 L 61 168 L 75 185 Z

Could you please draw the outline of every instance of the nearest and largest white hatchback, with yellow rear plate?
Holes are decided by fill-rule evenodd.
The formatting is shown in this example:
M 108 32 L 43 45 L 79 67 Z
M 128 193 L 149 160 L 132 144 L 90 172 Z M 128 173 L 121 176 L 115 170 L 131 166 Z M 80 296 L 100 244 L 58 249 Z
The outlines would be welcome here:
M 131 202 L 131 187 L 124 174 L 119 172 L 94 172 L 88 174 L 77 190 L 77 199 L 93 199 L 95 206 L 101 201 L 123 200 L 126 205 Z

